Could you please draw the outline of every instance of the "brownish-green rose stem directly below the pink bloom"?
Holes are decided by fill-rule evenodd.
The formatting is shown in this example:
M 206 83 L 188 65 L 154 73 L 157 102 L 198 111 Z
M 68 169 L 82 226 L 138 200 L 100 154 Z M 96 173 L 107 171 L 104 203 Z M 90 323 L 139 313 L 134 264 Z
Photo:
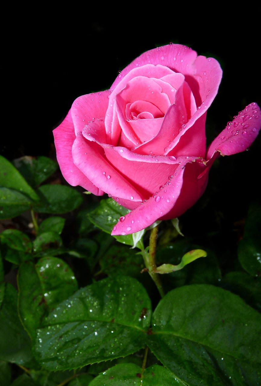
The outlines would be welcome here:
M 159 278 L 159 274 L 155 273 L 156 271 L 156 239 L 157 239 L 157 234 L 158 234 L 158 227 L 154 227 L 151 230 L 151 234 L 149 236 L 149 253 L 146 253 L 144 256 L 144 262 L 146 268 L 149 270 L 149 274 L 151 278 L 153 279 L 154 283 L 156 284 L 159 293 L 161 297 L 163 298 L 164 291 L 161 283 L 161 279 Z

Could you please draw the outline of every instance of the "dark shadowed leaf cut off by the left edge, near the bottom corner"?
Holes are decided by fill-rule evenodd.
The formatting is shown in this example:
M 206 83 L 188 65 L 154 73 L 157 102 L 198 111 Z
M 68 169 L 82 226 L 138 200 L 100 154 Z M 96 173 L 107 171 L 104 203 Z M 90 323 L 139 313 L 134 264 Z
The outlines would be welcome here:
M 27 366 L 32 360 L 31 341 L 17 313 L 17 291 L 0 284 L 0 359 Z

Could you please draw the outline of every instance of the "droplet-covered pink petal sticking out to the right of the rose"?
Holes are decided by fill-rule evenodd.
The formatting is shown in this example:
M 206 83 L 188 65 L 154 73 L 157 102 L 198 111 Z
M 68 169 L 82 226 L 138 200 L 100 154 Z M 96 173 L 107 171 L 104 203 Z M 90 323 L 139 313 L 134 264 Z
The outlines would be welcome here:
M 207 152 L 207 161 L 215 159 L 215 153 L 222 156 L 246 150 L 256 139 L 261 127 L 261 111 L 256 103 L 250 103 L 239 112 L 232 122 L 214 139 Z M 211 161 L 212 163 L 212 161 Z

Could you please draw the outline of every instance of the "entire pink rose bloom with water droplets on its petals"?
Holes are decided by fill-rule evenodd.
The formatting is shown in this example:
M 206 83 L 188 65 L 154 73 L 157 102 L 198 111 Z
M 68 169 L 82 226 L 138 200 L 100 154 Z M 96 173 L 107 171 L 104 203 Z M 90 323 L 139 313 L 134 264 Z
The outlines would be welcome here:
M 251 103 L 206 150 L 206 113 L 221 77 L 215 59 L 186 46 L 152 49 L 121 71 L 110 90 L 77 98 L 54 130 L 66 181 L 132 210 L 113 235 L 180 216 L 202 195 L 215 158 L 254 141 L 261 113 Z

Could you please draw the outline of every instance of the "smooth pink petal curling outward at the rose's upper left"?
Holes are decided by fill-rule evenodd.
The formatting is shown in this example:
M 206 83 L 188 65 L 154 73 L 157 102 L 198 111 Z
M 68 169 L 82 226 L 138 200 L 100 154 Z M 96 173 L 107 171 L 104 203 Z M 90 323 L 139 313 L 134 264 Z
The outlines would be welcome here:
M 92 93 L 81 95 L 77 98 L 71 107 L 71 117 L 75 128 L 75 135 L 81 133 L 83 128 L 93 120 L 105 117 L 108 108 L 108 98 L 111 91 L 101 91 L 99 93 Z

